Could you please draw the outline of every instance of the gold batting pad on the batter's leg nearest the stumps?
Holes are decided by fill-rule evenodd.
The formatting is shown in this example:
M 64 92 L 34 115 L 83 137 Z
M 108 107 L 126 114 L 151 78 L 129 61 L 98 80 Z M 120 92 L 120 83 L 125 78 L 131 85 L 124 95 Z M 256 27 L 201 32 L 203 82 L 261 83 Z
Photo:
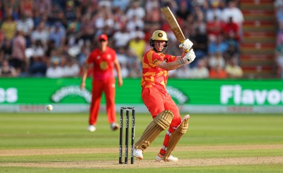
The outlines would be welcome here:
M 172 119 L 173 112 L 169 110 L 159 113 L 154 118 L 154 121 L 151 121 L 151 123 L 146 126 L 144 133 L 142 133 L 139 141 L 135 143 L 134 148 L 141 149 L 142 151 L 146 150 L 146 148 L 149 147 L 149 145 L 156 139 L 161 131 L 164 131 L 168 128 L 168 126 L 170 126 Z

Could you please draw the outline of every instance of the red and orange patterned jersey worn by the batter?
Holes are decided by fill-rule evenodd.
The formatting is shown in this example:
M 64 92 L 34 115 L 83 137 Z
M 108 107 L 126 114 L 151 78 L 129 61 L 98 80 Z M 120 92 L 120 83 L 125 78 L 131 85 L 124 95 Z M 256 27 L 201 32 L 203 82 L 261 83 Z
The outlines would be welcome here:
M 162 61 L 175 61 L 176 56 L 169 54 L 156 53 L 153 49 L 144 54 L 142 59 L 142 78 L 141 87 L 156 87 L 165 90 L 168 80 L 168 71 L 158 68 L 157 65 Z

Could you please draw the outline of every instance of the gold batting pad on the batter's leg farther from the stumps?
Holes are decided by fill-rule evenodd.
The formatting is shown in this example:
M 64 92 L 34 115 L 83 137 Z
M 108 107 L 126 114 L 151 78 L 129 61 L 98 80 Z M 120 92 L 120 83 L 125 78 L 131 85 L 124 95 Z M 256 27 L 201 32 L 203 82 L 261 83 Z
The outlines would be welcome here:
M 189 127 L 189 121 L 190 121 L 190 115 L 185 115 L 185 117 L 182 119 L 180 125 L 177 127 L 177 129 L 171 134 L 169 138 L 169 143 L 167 146 L 167 150 L 164 156 L 164 160 L 167 160 L 167 158 L 171 155 L 172 151 L 174 150 L 175 146 L 177 145 L 178 141 L 180 141 L 181 136 L 186 133 L 187 128 Z

